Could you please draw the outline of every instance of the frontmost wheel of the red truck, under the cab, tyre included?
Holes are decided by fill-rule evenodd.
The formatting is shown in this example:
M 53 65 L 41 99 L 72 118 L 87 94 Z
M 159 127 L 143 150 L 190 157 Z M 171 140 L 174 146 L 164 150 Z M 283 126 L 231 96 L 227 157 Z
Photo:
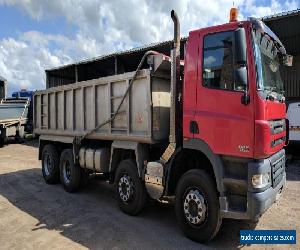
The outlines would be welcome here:
M 219 231 L 219 200 L 212 177 L 203 170 L 186 172 L 176 188 L 175 212 L 184 234 L 195 241 L 207 242 Z

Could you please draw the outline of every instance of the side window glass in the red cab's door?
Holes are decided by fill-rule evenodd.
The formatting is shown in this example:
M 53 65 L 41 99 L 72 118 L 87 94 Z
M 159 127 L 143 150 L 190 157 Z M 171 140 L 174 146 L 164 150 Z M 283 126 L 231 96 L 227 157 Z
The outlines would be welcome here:
M 233 31 L 204 37 L 202 77 L 205 87 L 242 90 L 234 86 L 233 43 Z

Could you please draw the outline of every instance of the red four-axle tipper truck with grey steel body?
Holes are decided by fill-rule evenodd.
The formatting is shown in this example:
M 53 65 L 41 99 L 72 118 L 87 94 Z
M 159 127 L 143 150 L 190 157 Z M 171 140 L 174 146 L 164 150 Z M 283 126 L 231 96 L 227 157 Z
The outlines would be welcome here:
M 229 23 L 191 31 L 180 60 L 171 17 L 170 57 L 147 51 L 115 73 L 120 61 L 46 71 L 52 87 L 34 95 L 34 131 L 47 183 L 74 192 L 100 174 L 130 215 L 147 198 L 175 197 L 179 226 L 205 242 L 223 218 L 257 221 L 284 187 L 279 69 L 292 57 L 262 21 L 233 10 Z

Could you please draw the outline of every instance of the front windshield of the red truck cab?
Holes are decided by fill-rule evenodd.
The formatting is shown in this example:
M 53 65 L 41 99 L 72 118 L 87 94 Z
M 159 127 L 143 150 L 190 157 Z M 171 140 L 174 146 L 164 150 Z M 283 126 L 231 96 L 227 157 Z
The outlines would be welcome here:
M 279 70 L 278 49 L 268 35 L 254 30 L 253 37 L 257 69 L 257 89 L 263 91 L 266 98 L 273 93 L 276 94 L 274 98 L 281 99 L 283 83 Z M 281 95 L 281 97 L 278 95 Z

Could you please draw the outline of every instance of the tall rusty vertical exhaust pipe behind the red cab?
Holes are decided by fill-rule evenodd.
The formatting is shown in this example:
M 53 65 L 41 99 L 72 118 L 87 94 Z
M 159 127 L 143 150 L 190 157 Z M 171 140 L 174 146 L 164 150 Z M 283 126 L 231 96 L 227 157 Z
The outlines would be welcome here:
M 174 43 L 171 50 L 171 107 L 169 146 L 161 156 L 161 162 L 167 163 L 176 149 L 176 96 L 180 80 L 180 23 L 174 10 L 171 11 L 174 23 Z

